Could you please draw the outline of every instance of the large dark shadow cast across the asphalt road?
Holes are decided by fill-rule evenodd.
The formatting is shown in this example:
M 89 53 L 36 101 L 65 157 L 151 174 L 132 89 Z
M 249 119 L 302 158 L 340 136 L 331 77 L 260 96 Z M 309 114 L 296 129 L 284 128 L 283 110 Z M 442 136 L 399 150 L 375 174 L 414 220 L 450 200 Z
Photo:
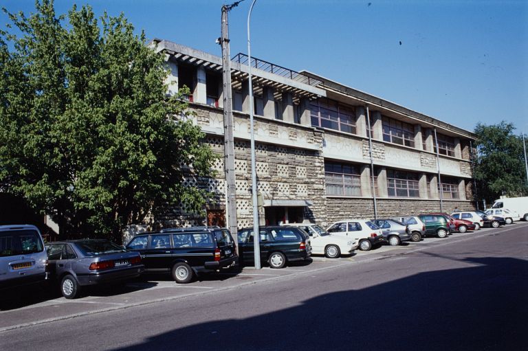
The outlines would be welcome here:
M 213 308 L 215 320 L 119 350 L 528 350 L 528 262 L 463 262 L 472 267 L 320 295 L 245 319 L 220 319 Z M 276 299 L 287 295 L 268 301 Z

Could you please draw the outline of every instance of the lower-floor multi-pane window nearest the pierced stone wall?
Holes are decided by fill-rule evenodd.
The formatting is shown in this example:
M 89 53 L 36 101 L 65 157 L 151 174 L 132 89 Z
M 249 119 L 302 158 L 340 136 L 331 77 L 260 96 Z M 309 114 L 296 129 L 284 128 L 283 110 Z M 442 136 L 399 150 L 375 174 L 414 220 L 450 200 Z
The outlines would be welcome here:
M 358 166 L 325 161 L 325 181 L 327 195 L 361 196 Z

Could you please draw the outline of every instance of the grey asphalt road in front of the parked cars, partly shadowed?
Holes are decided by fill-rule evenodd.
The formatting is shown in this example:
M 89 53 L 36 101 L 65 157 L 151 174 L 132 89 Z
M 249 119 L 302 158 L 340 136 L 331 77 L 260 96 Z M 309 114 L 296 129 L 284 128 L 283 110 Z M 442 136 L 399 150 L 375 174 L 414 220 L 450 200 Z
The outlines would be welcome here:
M 0 332 L 0 350 L 528 350 L 528 223 L 429 242 Z

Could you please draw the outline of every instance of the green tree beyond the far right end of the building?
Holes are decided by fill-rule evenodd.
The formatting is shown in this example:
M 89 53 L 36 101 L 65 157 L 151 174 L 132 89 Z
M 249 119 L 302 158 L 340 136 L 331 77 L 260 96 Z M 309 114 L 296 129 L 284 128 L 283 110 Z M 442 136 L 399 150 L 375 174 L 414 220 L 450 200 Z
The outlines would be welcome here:
M 478 197 L 494 201 L 500 195 L 528 194 L 522 137 L 514 135 L 511 123 L 477 124 L 475 178 Z

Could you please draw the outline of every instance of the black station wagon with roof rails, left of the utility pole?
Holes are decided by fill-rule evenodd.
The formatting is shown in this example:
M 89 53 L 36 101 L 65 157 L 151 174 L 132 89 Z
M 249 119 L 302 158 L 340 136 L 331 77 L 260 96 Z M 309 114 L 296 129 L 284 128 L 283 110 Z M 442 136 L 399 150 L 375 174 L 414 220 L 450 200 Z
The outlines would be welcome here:
M 191 282 L 199 273 L 230 268 L 238 262 L 230 231 L 219 227 L 137 234 L 126 249 L 141 254 L 147 273 L 172 273 L 177 283 Z

